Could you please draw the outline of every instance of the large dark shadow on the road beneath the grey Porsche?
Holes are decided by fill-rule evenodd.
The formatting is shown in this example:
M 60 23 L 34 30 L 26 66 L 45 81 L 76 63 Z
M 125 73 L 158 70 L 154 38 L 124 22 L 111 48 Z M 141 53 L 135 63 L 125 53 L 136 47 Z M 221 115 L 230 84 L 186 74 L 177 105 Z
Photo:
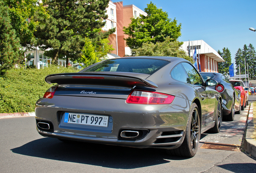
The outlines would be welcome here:
M 82 142 L 65 143 L 49 137 L 31 141 L 21 147 L 11 149 L 11 151 L 32 157 L 116 169 L 134 169 L 169 163 L 165 159 L 188 159 L 167 155 L 163 149 L 137 149 Z

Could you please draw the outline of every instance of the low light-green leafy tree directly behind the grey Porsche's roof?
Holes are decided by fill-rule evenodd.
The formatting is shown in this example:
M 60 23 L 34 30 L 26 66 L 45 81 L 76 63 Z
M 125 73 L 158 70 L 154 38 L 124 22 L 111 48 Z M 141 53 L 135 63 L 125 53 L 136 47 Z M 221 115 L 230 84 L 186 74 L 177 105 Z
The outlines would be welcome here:
M 186 55 L 186 52 L 180 48 L 183 42 L 171 39 L 169 36 L 163 42 L 143 43 L 140 48 L 134 49 L 136 56 L 175 56 L 184 58 L 192 62 L 192 58 Z

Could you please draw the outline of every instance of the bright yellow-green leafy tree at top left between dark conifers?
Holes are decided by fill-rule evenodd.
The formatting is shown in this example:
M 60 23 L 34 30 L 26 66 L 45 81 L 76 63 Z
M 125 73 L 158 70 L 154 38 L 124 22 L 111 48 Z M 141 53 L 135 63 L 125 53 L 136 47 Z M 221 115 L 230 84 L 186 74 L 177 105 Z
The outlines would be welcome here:
M 11 25 L 21 46 L 29 47 L 38 24 L 33 16 L 35 13 L 47 16 L 45 8 L 38 3 L 38 0 L 5 0 L 4 3 L 9 7 Z

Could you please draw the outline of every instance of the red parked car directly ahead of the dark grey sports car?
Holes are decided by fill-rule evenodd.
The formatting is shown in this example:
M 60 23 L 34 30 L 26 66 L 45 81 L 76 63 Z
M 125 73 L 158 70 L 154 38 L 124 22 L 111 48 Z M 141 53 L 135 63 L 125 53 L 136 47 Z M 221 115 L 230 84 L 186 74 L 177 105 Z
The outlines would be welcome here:
M 233 84 L 234 88 L 241 92 L 241 110 L 243 111 L 248 104 L 247 93 L 244 91 L 244 82 L 242 80 L 229 80 Z

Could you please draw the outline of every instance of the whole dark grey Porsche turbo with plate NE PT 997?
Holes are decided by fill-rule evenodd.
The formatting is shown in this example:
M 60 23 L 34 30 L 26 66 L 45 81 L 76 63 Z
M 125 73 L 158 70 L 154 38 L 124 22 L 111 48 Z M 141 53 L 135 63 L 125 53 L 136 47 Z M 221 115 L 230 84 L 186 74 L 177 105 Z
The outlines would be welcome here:
M 37 131 L 61 141 L 162 148 L 193 157 L 201 133 L 218 133 L 221 95 L 183 58 L 128 57 L 51 74 L 36 102 Z

